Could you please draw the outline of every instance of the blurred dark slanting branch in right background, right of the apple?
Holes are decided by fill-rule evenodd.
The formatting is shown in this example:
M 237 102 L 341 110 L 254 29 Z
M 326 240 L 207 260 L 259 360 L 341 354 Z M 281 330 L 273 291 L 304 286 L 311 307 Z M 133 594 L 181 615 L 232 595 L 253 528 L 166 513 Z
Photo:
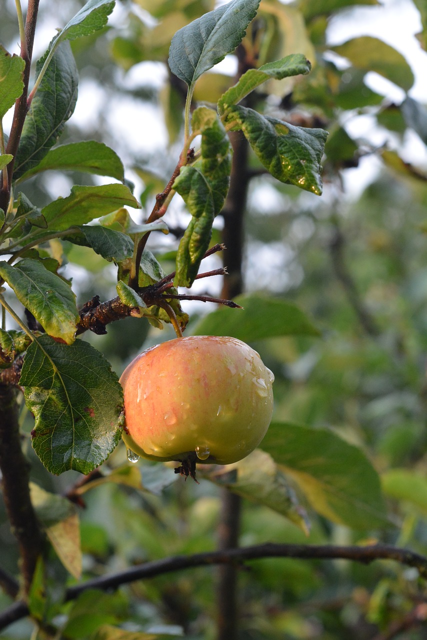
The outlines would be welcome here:
M 341 282 L 344 291 L 346 292 L 348 301 L 351 307 L 359 319 L 359 322 L 367 333 L 372 337 L 380 335 L 380 329 L 378 328 L 375 320 L 368 312 L 363 301 L 360 299 L 359 291 L 357 291 L 356 284 L 351 276 L 350 271 L 346 266 L 346 260 L 344 257 L 345 239 L 342 231 L 339 227 L 335 227 L 335 234 L 330 242 L 330 255 L 332 258 L 332 264 L 334 266 L 335 275 L 339 282 Z

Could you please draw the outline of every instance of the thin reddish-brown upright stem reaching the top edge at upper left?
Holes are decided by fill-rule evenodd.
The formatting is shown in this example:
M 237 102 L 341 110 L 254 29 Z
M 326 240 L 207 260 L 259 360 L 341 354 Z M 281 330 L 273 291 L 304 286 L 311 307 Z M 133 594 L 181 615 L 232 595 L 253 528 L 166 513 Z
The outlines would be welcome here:
M 25 38 L 26 42 L 21 44 L 21 57 L 25 61 L 24 68 L 24 91 L 21 97 L 15 102 L 15 111 L 13 113 L 12 127 L 10 129 L 10 136 L 8 145 L 6 147 L 6 154 L 12 154 L 13 160 L 8 164 L 8 185 L 3 185 L 0 189 L 0 208 L 3 211 L 7 211 L 10 197 L 10 185 L 12 184 L 13 166 L 15 164 L 15 156 L 19 147 L 20 135 L 22 133 L 22 127 L 24 127 L 24 121 L 28 113 L 28 85 L 29 85 L 29 72 L 31 70 L 31 56 L 33 55 L 34 34 L 37 22 L 38 3 L 40 0 L 29 0 L 28 11 L 25 22 Z

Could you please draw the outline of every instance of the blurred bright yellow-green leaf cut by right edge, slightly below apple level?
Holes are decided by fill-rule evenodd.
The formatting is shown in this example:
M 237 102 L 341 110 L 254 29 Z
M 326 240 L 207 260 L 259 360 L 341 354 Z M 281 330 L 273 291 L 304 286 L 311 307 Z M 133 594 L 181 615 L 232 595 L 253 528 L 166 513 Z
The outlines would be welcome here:
M 409 469 L 391 469 L 381 476 L 383 492 L 403 502 L 409 502 L 427 513 L 427 479 Z

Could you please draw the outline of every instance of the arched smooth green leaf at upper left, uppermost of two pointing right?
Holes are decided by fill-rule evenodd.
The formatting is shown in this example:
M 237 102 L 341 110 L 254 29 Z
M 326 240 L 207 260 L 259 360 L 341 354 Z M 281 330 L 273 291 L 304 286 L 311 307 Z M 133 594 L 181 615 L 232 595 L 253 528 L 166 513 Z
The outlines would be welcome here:
M 124 180 L 123 164 L 117 154 L 101 142 L 93 140 L 55 147 L 40 163 L 22 174 L 19 182 L 50 169 L 95 173 L 108 175 L 120 182 Z

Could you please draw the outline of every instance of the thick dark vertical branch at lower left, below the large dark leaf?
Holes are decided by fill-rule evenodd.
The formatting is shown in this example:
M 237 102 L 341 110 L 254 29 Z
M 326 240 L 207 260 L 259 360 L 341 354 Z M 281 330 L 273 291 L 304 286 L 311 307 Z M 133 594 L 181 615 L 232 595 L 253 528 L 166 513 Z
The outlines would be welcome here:
M 29 497 L 29 464 L 21 448 L 17 389 L 12 385 L 0 385 L 0 470 L 4 504 L 19 543 L 23 586 L 28 593 L 43 538 Z

